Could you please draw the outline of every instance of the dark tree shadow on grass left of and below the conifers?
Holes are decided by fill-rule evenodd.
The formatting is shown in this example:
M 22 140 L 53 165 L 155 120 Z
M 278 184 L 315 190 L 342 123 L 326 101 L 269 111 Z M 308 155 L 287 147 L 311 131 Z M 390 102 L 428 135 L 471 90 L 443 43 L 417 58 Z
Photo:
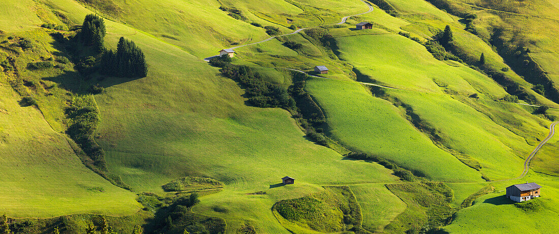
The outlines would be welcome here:
M 74 70 L 68 71 L 64 69 L 64 72 L 58 76 L 45 77 L 44 80 L 49 80 L 56 82 L 64 89 L 72 91 L 76 94 L 88 94 L 90 87 L 99 84 L 102 87 L 111 87 L 113 85 L 119 85 L 125 82 L 140 79 L 139 77 L 129 78 L 129 77 L 110 77 L 98 74 L 92 69 L 82 69 L 82 72 L 78 72 L 80 61 L 84 60 L 87 56 L 93 56 L 100 59 L 100 55 L 93 53 L 91 48 L 83 46 L 82 43 L 75 39 L 68 39 L 64 37 L 61 33 L 51 33 L 53 37 L 53 42 L 51 45 L 60 52 L 53 53 L 56 57 L 67 57 L 75 65 Z M 65 66 L 70 66 L 66 64 Z M 87 71 L 89 70 L 89 71 Z

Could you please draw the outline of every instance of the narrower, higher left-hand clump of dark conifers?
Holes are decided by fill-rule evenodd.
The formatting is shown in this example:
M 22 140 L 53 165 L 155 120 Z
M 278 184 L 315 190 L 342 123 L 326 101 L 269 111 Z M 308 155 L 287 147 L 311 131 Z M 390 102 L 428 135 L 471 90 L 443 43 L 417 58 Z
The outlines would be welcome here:
M 107 31 L 103 18 L 96 14 L 88 14 L 83 20 L 79 37 L 87 46 L 93 46 L 97 52 L 105 51 L 105 35 Z

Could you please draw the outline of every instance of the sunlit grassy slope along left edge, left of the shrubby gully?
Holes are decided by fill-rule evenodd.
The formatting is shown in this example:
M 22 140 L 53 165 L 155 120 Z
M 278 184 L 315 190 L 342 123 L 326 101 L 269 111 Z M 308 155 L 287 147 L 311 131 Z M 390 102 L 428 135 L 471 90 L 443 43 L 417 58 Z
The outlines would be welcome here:
M 18 67 L 25 67 L 27 62 L 45 55 L 46 50 L 53 53 L 57 50 L 46 33 L 23 32 L 41 22 L 39 18 L 34 19 L 37 14 L 32 11 L 41 7 L 31 8 L 35 5 L 30 1 L 17 6 L 14 3 L 0 3 L 0 11 L 9 11 L 11 16 L 2 17 L 0 30 L 16 31 L 20 36 L 36 40 L 39 49 L 22 53 L 16 59 Z M 50 70 L 41 72 L 21 71 L 21 76 L 34 80 L 37 76 L 60 75 L 49 73 Z M 54 88 L 50 90 L 53 95 L 47 96 L 44 89 L 37 89 L 36 99 L 45 107 L 41 113 L 33 107 L 18 105 L 21 97 L 8 85 L 3 72 L 0 79 L 0 176 L 3 178 L 0 187 L 4 188 L 0 191 L 4 201 L 0 211 L 12 217 L 53 217 L 80 212 L 130 215 L 138 211 L 134 193 L 113 186 L 84 167 L 65 136 L 58 132 L 61 126 L 55 118 L 61 117 L 61 110 L 56 100 L 65 93 Z M 50 81 L 44 82 L 51 85 Z

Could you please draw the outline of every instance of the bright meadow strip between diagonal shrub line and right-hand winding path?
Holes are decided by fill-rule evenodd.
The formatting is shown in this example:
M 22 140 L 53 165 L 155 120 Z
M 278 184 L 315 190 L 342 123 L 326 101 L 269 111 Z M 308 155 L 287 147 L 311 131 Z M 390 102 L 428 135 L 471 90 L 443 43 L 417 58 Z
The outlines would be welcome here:
M 400 90 L 388 93 L 409 105 L 408 111 L 417 115 L 415 119 L 433 128 L 434 138 L 455 150 L 453 154 L 458 158 L 473 158 L 481 164 L 480 171 L 485 176 L 504 179 L 522 172 L 524 160 L 519 156 L 528 155 L 532 146 L 486 115 L 448 95 Z M 508 167 L 503 168 L 503 164 Z

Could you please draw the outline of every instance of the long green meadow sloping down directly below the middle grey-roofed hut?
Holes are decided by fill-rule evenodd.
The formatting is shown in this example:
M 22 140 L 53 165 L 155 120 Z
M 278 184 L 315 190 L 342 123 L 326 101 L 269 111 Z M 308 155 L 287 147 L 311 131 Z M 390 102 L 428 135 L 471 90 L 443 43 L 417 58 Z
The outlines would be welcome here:
M 363 86 L 312 79 L 306 89 L 324 109 L 328 133 L 348 147 L 379 155 L 430 179 L 479 181 L 479 173 L 439 149 L 389 101 L 373 97 Z

